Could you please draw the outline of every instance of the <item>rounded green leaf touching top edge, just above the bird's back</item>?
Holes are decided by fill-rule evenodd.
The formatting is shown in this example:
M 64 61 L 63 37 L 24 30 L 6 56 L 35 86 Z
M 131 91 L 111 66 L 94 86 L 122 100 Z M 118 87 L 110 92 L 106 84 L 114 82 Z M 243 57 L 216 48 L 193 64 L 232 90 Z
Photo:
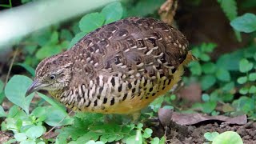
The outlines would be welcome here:
M 122 6 L 120 2 L 113 2 L 102 9 L 102 14 L 105 16 L 105 24 L 115 22 L 122 18 Z

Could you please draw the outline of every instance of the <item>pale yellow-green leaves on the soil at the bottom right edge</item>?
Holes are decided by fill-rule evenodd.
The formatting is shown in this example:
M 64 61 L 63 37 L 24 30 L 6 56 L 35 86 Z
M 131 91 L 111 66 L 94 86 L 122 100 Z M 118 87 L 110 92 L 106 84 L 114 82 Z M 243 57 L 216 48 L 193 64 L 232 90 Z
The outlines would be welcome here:
M 226 131 L 222 134 L 218 134 L 218 132 L 206 132 L 204 134 L 208 143 L 212 144 L 226 144 L 226 143 L 234 143 L 234 144 L 242 144 L 242 138 L 240 135 L 234 131 Z

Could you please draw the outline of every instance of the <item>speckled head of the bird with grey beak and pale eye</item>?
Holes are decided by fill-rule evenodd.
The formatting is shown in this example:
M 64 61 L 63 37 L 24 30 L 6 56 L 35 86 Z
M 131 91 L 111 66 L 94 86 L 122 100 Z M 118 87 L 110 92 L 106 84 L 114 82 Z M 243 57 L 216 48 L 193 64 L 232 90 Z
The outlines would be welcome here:
M 62 91 L 72 78 L 72 58 L 69 54 L 57 54 L 42 60 L 35 70 L 32 85 L 26 91 L 29 95 L 37 90 L 48 90 L 50 93 Z

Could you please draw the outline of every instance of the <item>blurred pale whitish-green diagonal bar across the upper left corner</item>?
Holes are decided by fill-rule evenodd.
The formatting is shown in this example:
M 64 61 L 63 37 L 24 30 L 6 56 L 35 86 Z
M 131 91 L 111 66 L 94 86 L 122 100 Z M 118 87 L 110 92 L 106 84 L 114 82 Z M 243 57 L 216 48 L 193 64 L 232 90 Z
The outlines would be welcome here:
M 0 12 L 0 50 L 16 38 L 114 1 L 119 0 L 43 0 L 3 10 Z

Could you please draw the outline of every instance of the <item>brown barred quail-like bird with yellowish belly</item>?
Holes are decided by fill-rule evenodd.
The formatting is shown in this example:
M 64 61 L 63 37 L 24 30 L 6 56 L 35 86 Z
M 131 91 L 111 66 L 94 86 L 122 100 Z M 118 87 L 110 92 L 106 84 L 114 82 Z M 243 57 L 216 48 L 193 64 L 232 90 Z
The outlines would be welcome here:
M 73 110 L 133 114 L 177 83 L 194 59 L 184 35 L 154 18 L 125 18 L 44 59 L 27 90 L 48 90 Z

